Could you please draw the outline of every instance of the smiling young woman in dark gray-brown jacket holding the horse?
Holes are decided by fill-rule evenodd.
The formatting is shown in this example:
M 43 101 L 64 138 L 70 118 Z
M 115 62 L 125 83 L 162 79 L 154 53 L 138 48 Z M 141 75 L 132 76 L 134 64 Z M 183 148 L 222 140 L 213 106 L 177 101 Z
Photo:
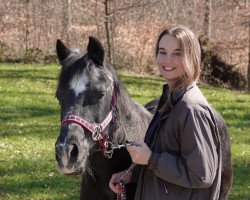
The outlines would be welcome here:
M 212 200 L 220 193 L 221 153 L 213 110 L 196 85 L 199 42 L 184 26 L 164 30 L 156 63 L 166 79 L 145 143 L 127 147 L 139 164 L 135 200 Z M 136 179 L 135 168 L 125 183 Z M 110 188 L 119 192 L 114 174 Z

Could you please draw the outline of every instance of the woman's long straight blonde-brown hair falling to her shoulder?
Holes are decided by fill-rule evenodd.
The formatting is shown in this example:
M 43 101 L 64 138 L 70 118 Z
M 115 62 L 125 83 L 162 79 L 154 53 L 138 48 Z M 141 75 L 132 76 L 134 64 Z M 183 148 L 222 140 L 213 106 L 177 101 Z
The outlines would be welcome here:
M 156 56 L 159 51 L 160 40 L 164 35 L 171 35 L 181 45 L 184 74 L 178 80 L 177 87 L 187 87 L 192 82 L 197 81 L 201 73 L 201 49 L 199 41 L 195 34 L 185 26 L 178 25 L 165 29 L 158 37 L 155 49 Z

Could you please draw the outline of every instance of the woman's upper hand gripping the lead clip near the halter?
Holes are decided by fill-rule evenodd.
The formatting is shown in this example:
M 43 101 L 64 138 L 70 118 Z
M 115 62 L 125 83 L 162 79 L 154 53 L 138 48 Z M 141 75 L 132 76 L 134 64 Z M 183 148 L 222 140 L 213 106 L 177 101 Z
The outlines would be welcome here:
M 136 142 L 136 145 L 128 146 L 127 150 L 134 163 L 140 164 L 140 165 L 148 164 L 148 159 L 152 151 L 144 142 Z

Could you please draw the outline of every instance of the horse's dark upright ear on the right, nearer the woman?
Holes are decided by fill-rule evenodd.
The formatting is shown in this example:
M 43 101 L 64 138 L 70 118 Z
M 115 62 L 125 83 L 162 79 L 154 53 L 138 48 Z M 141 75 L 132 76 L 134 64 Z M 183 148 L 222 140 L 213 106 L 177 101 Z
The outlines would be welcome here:
M 102 65 L 104 61 L 104 49 L 99 40 L 90 36 L 89 44 L 87 47 L 88 56 L 94 63 Z

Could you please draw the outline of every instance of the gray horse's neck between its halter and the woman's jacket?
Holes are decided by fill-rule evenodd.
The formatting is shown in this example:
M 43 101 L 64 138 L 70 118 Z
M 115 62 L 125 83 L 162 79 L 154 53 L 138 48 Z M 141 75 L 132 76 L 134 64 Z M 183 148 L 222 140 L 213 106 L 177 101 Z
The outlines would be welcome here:
M 117 97 L 117 108 L 116 135 L 123 135 L 128 141 L 142 141 L 152 115 L 142 105 L 133 101 L 125 90 Z

